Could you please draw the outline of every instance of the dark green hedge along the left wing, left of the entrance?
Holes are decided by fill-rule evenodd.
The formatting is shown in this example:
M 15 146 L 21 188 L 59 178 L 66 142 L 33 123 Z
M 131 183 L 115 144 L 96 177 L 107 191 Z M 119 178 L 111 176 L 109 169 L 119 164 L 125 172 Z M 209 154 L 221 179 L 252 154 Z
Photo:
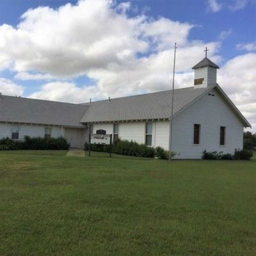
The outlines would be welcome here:
M 0 150 L 68 150 L 70 143 L 63 138 L 42 138 L 25 136 L 24 140 L 12 140 L 7 138 L 0 140 Z

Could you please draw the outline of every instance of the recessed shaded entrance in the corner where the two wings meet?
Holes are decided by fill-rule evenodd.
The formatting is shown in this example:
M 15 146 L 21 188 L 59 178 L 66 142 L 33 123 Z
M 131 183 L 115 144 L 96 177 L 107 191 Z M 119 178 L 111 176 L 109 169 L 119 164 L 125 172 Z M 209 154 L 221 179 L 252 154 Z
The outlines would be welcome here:
M 86 140 L 86 128 L 64 128 L 64 137 L 70 143 L 71 148 L 83 148 Z

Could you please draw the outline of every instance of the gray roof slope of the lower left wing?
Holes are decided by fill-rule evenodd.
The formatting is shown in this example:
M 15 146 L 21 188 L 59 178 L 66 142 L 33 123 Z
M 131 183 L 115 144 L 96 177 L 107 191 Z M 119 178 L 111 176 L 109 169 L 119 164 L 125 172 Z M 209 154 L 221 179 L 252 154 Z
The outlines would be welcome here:
M 0 122 L 78 126 L 88 106 L 2 95 Z

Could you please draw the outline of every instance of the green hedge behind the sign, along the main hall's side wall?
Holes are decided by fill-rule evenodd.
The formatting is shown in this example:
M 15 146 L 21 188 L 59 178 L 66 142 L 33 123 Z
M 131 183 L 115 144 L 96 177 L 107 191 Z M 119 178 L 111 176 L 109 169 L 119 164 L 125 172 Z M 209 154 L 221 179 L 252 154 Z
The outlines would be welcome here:
M 129 140 L 121 140 L 115 139 L 112 144 L 112 153 L 126 156 L 139 156 L 139 157 L 150 157 L 154 158 L 155 156 L 160 159 L 168 159 L 169 151 L 164 150 L 164 148 L 157 147 L 160 153 L 156 153 L 156 149 L 152 147 L 148 147 L 145 144 L 139 144 L 136 141 Z M 89 143 L 85 142 L 84 150 L 89 150 Z M 92 151 L 100 151 L 100 152 L 109 152 L 109 145 L 100 145 L 100 144 L 91 144 Z M 157 152 L 158 152 L 157 151 Z M 175 154 L 172 153 L 172 156 Z

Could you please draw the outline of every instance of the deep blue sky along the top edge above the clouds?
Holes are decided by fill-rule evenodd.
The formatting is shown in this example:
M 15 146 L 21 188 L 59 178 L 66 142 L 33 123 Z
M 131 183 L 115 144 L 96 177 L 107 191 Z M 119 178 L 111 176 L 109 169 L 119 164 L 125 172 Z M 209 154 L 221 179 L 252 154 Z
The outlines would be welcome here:
M 117 2 L 125 2 L 118 0 Z M 232 34 L 226 38 L 220 49 L 220 54 L 229 59 L 237 55 L 236 44 L 248 44 L 256 39 L 256 1 L 248 0 L 247 4 L 238 11 L 230 11 L 223 7 L 219 12 L 207 10 L 209 5 L 205 0 L 131 0 L 139 10 L 146 9 L 148 16 L 157 19 L 159 16 L 198 24 L 189 35 L 191 40 L 212 41 L 220 35 L 221 31 L 232 29 Z M 233 4 L 232 0 L 219 1 L 220 3 Z M 0 2 L 0 24 L 7 23 L 17 26 L 20 16 L 30 8 L 38 6 L 50 6 L 58 8 L 61 5 L 76 1 L 62 0 L 1 0 Z M 129 12 L 129 16 L 136 16 L 138 13 Z

